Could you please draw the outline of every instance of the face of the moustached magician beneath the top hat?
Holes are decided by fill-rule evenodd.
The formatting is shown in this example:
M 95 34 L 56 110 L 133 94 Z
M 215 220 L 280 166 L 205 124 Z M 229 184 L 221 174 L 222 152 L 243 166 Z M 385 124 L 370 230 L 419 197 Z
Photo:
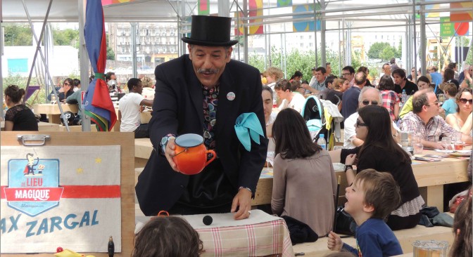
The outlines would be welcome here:
M 201 81 L 203 86 L 213 88 L 225 70 L 225 65 L 230 61 L 233 48 L 190 44 L 187 45 L 187 48 L 198 81 Z

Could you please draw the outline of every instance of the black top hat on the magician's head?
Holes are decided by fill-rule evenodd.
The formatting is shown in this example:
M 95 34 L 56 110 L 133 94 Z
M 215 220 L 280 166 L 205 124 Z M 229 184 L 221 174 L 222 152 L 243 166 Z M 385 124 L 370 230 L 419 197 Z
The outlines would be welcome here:
M 182 37 L 187 44 L 197 46 L 233 46 L 238 40 L 230 40 L 232 18 L 192 15 L 191 37 Z

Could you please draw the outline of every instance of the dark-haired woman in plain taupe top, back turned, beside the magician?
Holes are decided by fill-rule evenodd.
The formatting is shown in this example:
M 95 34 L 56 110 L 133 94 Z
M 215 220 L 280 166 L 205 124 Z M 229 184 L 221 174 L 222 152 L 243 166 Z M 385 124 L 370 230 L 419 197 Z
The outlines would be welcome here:
M 317 235 L 332 230 L 336 179 L 329 152 L 313 143 L 301 114 L 284 109 L 272 126 L 276 142 L 271 209 L 309 225 Z

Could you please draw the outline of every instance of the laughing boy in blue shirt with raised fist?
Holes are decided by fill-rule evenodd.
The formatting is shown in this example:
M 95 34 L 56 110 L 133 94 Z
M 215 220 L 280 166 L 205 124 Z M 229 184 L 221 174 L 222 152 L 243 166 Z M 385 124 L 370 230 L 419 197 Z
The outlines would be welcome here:
M 345 249 L 356 256 L 396 256 L 403 254 L 401 244 L 384 218 L 401 202 L 399 187 L 387 172 L 365 169 L 358 173 L 353 184 L 346 187 L 345 211 L 357 225 L 356 249 L 344 244 L 339 235 L 329 232 L 327 246 L 332 251 Z

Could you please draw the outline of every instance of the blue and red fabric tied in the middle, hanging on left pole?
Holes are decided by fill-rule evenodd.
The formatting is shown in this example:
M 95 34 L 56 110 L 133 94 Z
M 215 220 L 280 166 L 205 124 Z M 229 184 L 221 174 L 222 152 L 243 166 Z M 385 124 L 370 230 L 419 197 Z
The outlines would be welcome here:
M 82 105 L 84 105 L 85 114 L 95 122 L 97 131 L 111 131 L 117 121 L 117 115 L 103 74 L 107 49 L 101 1 L 87 0 L 85 19 L 85 46 L 95 78 L 87 88 Z

